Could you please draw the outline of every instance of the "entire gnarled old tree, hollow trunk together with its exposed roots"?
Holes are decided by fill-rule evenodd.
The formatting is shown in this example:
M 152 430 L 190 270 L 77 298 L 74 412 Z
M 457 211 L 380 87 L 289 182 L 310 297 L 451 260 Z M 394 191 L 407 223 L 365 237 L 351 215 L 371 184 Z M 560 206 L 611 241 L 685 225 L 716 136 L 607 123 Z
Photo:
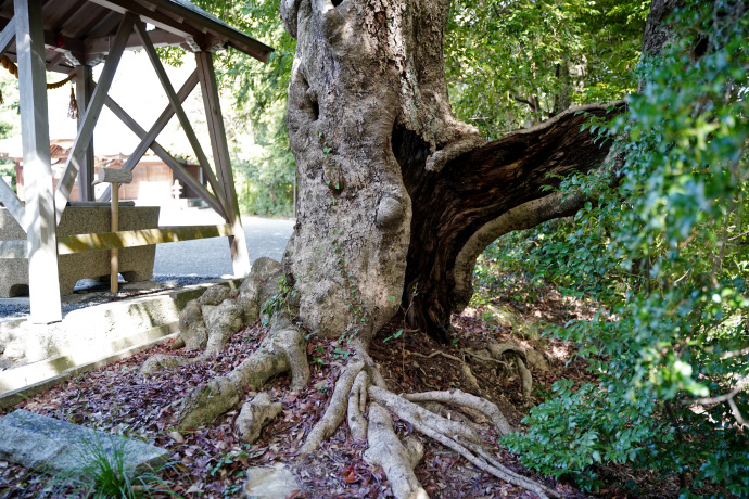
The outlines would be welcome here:
M 673 1 L 653 1 L 653 12 L 662 14 L 660 4 Z M 307 336 L 289 317 L 297 308 L 297 319 L 313 331 L 351 341 L 348 362 L 301 456 L 315 451 L 347 413 L 354 438 L 367 438 L 365 460 L 382 466 L 395 497 L 427 497 L 412 471 L 422 449 L 401 443 L 391 412 L 497 478 L 542 498 L 559 497 L 505 468 L 484 448 L 475 425 L 423 404 L 478 413 L 506 434 L 512 428 L 497 406 L 458 389 L 389 392 L 368 346 L 402 300 L 412 325 L 446 340 L 450 314 L 471 297 L 473 265 L 486 245 L 511 230 L 570 215 L 585 202 L 580 193 L 545 195 L 541 188 L 550 182 L 548 174 L 601 165 L 609 144 L 580 131 L 587 116 L 579 112 L 601 116 L 606 106 L 568 110 L 485 143 L 450 112 L 443 67 L 447 0 L 282 0 L 281 11 L 299 40 L 288 111 L 299 215 L 283 265 L 261 258 L 237 292 L 206 292 L 186 307 L 180 323 L 192 323 L 182 328 L 186 343 L 193 343 L 188 342 L 193 331 L 206 351 L 189 359 L 154 356 L 143 370 L 212 355 L 237 323 L 256 318 L 263 304 L 271 303 L 278 309 L 259 347 L 230 373 L 192 389 L 175 423 L 187 428 L 211 422 L 244 399 L 246 388 L 259 389 L 284 371 L 292 374 L 291 389 L 303 388 L 310 372 Z M 661 14 L 648 24 L 660 24 Z M 656 36 L 661 31 L 653 26 L 648 33 Z M 492 358 L 482 359 L 517 355 L 530 393 L 523 350 L 494 347 L 487 349 Z M 242 414 L 250 418 L 261 402 L 249 402 Z M 253 433 L 244 430 L 249 425 L 239 433 Z

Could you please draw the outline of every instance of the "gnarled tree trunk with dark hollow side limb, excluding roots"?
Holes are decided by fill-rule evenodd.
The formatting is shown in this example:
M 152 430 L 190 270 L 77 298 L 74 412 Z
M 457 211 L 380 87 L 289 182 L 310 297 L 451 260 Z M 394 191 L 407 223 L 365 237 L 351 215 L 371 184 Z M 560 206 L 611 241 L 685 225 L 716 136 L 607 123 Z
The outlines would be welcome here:
M 587 117 L 574 112 L 492 143 L 455 118 L 443 60 L 448 8 L 282 3 L 297 38 L 288 129 L 300 179 L 284 267 L 301 319 L 327 336 L 366 345 L 403 300 L 412 327 L 447 340 L 450 314 L 472 294 L 466 269 L 491 243 L 486 226 L 521 205 L 518 227 L 571 213 L 577 205 L 529 202 L 544 196 L 547 174 L 588 170 L 608 151 L 580 131 Z

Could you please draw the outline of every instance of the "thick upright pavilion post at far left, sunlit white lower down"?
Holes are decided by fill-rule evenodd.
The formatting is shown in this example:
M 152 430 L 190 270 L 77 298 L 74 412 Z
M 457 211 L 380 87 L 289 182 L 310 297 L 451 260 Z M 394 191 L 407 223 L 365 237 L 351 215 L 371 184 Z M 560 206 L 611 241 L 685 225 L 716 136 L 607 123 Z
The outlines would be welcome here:
M 30 321 L 62 320 L 41 0 L 14 0 L 21 95 Z

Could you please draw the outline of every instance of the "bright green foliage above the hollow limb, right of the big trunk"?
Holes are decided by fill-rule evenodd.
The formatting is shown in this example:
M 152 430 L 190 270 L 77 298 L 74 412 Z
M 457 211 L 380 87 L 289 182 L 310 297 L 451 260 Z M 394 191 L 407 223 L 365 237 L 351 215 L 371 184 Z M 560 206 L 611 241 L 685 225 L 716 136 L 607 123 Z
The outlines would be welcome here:
M 445 40 L 450 100 L 487 139 L 572 104 L 635 90 L 640 0 L 458 0 Z

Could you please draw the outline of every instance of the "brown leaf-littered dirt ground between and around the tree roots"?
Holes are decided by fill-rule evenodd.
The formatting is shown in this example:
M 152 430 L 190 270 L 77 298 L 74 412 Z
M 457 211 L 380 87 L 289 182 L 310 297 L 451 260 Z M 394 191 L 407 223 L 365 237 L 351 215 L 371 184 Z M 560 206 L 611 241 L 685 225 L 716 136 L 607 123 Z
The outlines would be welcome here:
M 408 331 L 398 336 L 397 331 L 403 324 L 402 318 L 396 317 L 373 341 L 370 354 L 380 364 L 389 387 L 396 393 L 460 388 L 490 398 L 499 406 L 511 424 L 522 427 L 521 419 L 530 407 L 548 396 L 549 387 L 556 380 L 570 379 L 575 384 L 593 380 L 582 361 L 568 362 L 571 354 L 569 344 L 538 334 L 539 323 L 563 324 L 570 318 L 585 317 L 586 309 L 555 293 L 545 296 L 536 299 L 534 305 L 506 302 L 467 309 L 454 318 L 457 340 L 450 345 L 441 345 L 423 334 Z M 503 316 L 505 312 L 497 312 L 496 307 L 491 308 L 497 305 L 504 307 L 500 310 L 511 315 L 511 321 L 506 320 L 507 317 Z M 161 476 L 173 492 L 187 498 L 238 497 L 247 466 L 275 462 L 289 464 L 302 483 L 302 488 L 291 497 L 392 497 L 382 470 L 368 465 L 363 459 L 366 443 L 350 439 L 345 421 L 317 452 L 305 459 L 296 457 L 306 434 L 323 413 L 337 376 L 345 366 L 348 356 L 345 344 L 321 341 L 314 335 L 309 337 L 307 354 L 312 362 L 312 376 L 308 384 L 302 391 L 290 392 L 289 379 L 282 375 L 267 385 L 271 399 L 282 402 L 283 412 L 264 428 L 261 439 L 254 445 L 242 444 L 233 434 L 232 422 L 238 410 L 195 431 L 181 434 L 173 431 L 173 402 L 189 388 L 233 369 L 266 333 L 266 329 L 256 322 L 237 332 L 219 356 L 150 376 L 140 375 L 139 367 L 149 356 L 169 350 L 169 345 L 161 345 L 48 389 L 16 408 L 137 437 L 168 449 L 173 464 Z M 534 389 L 530 400 L 523 398 L 517 372 L 482 366 L 462 353 L 490 342 L 509 340 L 544 351 L 550 364 L 551 369 L 546 372 L 532 370 Z M 441 354 L 432 355 L 435 351 Z M 467 374 L 464 363 L 470 366 L 473 380 Z M 247 396 L 251 395 L 247 393 Z M 401 436 L 412 432 L 411 427 L 397 420 L 395 426 Z M 416 474 L 431 497 L 536 497 L 473 468 L 433 440 L 415 435 L 426 447 L 424 458 L 417 466 Z M 505 465 L 533 476 L 516 456 L 496 445 L 496 435 L 488 430 L 485 439 L 488 445 L 494 443 L 492 451 Z M 633 495 L 630 491 L 627 495 L 622 484 L 632 475 L 626 470 L 605 470 L 602 475 L 608 483 L 595 497 L 672 495 L 668 484 L 658 484 L 648 477 L 640 481 L 642 494 Z M 556 488 L 567 498 L 594 497 L 581 492 L 569 483 L 556 483 L 539 476 L 534 478 Z M 49 476 L 0 461 L 0 497 L 37 497 L 49 479 Z M 56 494 L 59 497 L 71 497 L 73 490 L 64 489 Z M 166 495 L 155 494 L 154 497 Z

